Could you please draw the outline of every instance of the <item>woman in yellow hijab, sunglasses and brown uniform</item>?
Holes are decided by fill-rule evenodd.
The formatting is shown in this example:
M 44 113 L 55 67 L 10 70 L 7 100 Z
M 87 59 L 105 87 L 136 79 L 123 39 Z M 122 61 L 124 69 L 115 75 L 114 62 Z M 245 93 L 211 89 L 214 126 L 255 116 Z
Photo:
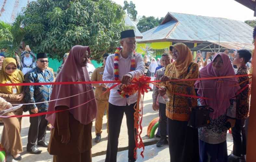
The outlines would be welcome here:
M 0 83 L 23 83 L 24 76 L 17 69 L 16 60 L 6 58 L 0 71 Z M 11 104 L 21 104 L 24 98 L 22 86 L 0 87 L 0 97 Z M 22 115 L 23 110 L 18 109 L 6 115 Z M 21 160 L 20 153 L 23 152 L 22 141 L 20 137 L 21 118 L 0 118 L 4 122 L 4 129 L 1 138 L 1 144 L 10 153 L 15 160 Z

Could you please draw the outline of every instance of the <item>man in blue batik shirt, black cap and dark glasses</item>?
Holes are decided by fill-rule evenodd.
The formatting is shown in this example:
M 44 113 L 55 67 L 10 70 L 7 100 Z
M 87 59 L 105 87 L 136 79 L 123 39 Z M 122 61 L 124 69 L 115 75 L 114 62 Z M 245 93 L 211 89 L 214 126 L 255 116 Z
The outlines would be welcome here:
M 26 83 L 47 83 L 53 82 L 53 74 L 47 70 L 48 58 L 46 53 L 38 53 L 36 67 L 25 75 Z M 48 102 L 52 93 L 52 85 L 40 86 L 26 86 L 25 87 L 25 101 L 32 103 L 27 105 L 27 110 L 30 114 L 39 112 L 46 112 L 48 109 Z M 44 103 L 38 103 L 44 102 Z M 45 119 L 46 115 L 30 117 L 30 127 L 28 133 L 27 151 L 32 154 L 40 154 L 42 150 L 37 148 L 37 145 L 48 147 L 45 141 L 46 127 L 48 121 Z M 36 145 L 37 141 L 37 145 Z

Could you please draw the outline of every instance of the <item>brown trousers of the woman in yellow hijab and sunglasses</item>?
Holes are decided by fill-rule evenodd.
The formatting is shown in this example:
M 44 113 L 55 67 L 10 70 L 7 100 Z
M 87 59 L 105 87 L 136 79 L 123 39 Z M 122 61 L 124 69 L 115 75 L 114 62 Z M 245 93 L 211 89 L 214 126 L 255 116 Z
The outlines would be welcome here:
M 22 115 L 22 109 L 7 115 Z M 6 149 L 6 153 L 16 155 L 23 152 L 20 136 L 21 118 L 1 118 L 4 122 L 4 129 L 1 144 Z

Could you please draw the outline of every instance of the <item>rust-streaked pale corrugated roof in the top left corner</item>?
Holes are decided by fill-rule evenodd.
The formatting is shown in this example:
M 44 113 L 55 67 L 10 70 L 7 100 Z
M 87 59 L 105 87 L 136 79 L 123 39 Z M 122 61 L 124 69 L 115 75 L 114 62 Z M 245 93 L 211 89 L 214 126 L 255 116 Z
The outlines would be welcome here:
M 13 23 L 22 9 L 36 0 L 0 0 L 0 21 Z

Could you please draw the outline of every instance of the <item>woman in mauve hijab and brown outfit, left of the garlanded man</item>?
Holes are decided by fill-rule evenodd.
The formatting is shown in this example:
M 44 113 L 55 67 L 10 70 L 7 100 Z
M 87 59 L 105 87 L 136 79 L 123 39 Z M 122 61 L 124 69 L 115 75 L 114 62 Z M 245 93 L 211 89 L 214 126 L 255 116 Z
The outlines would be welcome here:
M 86 69 L 89 55 L 88 46 L 74 46 L 56 82 L 90 81 Z M 48 146 L 48 152 L 53 155 L 54 162 L 92 161 L 91 132 L 97 107 L 91 84 L 55 85 L 51 100 L 79 93 L 83 94 L 49 103 L 48 111 L 55 111 L 67 110 L 91 100 L 75 109 L 46 115 L 46 119 L 54 126 Z

